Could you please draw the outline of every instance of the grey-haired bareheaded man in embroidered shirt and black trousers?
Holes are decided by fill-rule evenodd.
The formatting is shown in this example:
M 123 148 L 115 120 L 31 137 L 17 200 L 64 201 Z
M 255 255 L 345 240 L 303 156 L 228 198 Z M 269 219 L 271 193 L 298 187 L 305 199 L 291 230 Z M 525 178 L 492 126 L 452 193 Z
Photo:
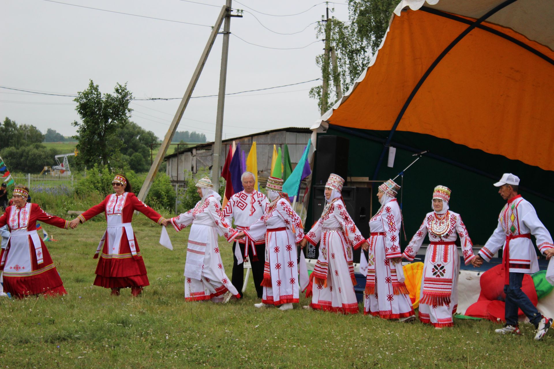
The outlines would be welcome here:
M 223 216 L 229 225 L 234 218 L 235 229 L 243 231 L 264 215 L 269 201 L 264 194 L 254 189 L 256 179 L 253 173 L 245 171 L 240 176 L 240 180 L 244 190 L 231 196 L 227 206 L 223 209 Z M 239 250 L 237 250 L 237 247 Z M 240 257 L 237 258 L 237 255 Z M 233 276 L 231 277 L 231 283 L 237 288 L 240 298 L 243 297 L 243 260 L 248 261 L 248 257 L 250 257 L 250 264 L 252 265 L 254 287 L 256 288 L 258 298 L 261 299 L 263 295 L 261 281 L 264 279 L 265 239 L 251 240 L 246 237 L 242 240 L 235 240 L 233 243 Z

